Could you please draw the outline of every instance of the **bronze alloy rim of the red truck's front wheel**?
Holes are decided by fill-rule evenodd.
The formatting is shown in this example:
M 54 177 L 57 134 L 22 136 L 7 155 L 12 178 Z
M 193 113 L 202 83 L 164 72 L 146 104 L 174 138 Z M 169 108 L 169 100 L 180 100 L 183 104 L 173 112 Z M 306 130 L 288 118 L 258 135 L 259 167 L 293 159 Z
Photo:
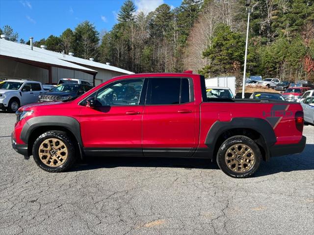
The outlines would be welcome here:
M 64 142 L 50 138 L 44 140 L 39 147 L 39 159 L 46 165 L 57 167 L 64 164 L 68 158 L 68 148 Z

